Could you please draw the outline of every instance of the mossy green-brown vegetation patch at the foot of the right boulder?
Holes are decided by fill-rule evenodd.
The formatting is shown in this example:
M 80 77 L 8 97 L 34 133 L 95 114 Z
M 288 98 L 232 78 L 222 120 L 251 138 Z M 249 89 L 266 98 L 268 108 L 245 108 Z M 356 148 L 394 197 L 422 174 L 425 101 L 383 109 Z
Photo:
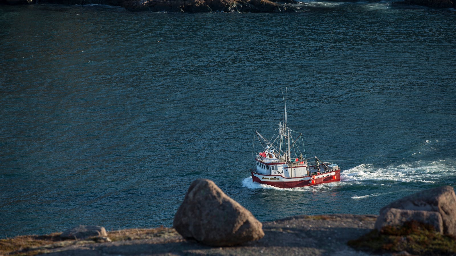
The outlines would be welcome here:
M 413 255 L 456 255 L 456 237 L 441 235 L 433 226 L 416 221 L 374 229 L 348 241 L 348 246 L 377 254 L 407 251 Z

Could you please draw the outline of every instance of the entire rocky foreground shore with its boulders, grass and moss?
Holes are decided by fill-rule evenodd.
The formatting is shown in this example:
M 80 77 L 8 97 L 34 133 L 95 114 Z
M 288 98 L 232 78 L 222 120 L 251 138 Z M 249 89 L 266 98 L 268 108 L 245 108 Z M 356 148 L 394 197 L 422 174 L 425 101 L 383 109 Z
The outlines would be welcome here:
M 190 185 L 173 228 L 106 232 L 78 225 L 63 233 L 0 240 L 0 255 L 456 255 L 451 186 L 396 200 L 380 215 L 299 215 L 259 222 L 208 179 Z

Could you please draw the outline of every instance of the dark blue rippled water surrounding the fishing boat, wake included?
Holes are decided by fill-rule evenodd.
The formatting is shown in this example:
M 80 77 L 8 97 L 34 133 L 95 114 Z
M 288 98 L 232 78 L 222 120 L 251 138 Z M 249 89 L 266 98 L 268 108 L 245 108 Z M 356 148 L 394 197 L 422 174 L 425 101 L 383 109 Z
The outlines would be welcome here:
M 456 12 L 300 6 L 0 6 L 0 236 L 171 226 L 197 178 L 261 221 L 456 186 Z M 285 87 L 290 128 L 342 182 L 252 184 L 254 131 L 272 137 Z

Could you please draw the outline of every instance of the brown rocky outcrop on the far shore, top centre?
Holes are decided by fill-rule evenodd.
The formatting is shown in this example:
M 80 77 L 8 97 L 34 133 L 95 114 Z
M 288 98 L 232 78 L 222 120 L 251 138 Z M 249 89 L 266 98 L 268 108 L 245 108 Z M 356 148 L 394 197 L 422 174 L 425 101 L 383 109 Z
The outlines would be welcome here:
M 127 0 L 127 10 L 172 12 L 284 12 L 294 11 L 270 0 Z

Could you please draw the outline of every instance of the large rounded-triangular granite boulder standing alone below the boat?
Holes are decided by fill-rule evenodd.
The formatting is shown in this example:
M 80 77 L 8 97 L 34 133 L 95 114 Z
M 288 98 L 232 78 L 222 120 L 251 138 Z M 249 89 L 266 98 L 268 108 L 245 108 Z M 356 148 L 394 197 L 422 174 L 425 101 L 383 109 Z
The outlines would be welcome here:
M 173 227 L 183 237 L 210 246 L 233 246 L 264 236 L 261 222 L 208 179 L 192 182 Z

